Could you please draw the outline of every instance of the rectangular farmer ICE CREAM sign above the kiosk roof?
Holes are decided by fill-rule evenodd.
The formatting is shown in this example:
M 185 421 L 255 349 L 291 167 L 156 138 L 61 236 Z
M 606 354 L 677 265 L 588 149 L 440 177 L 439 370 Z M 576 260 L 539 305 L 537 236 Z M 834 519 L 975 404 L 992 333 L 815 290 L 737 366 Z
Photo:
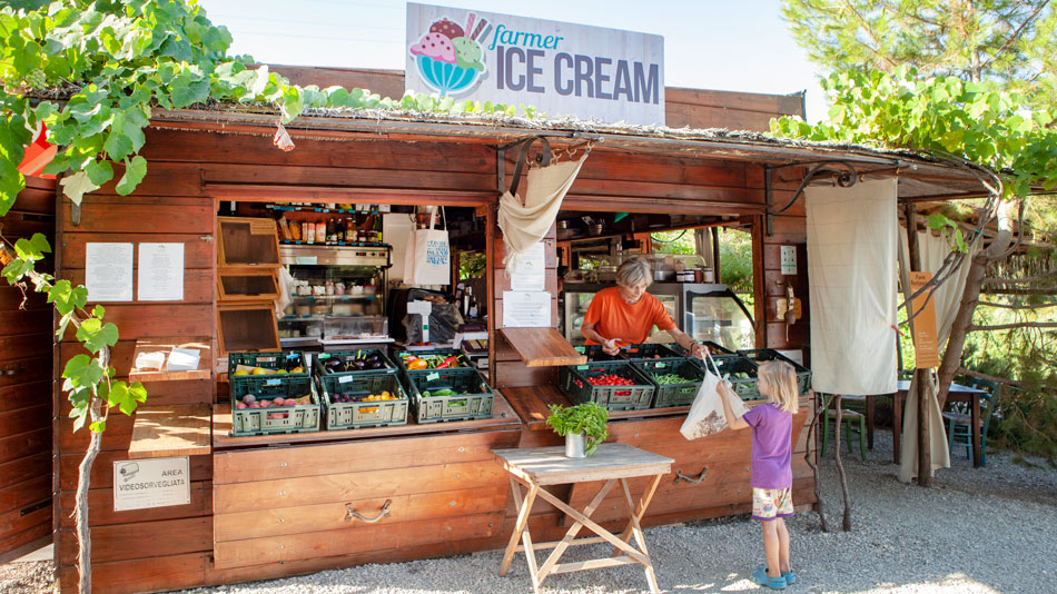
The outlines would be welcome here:
M 407 4 L 406 86 L 550 117 L 664 123 L 664 38 Z

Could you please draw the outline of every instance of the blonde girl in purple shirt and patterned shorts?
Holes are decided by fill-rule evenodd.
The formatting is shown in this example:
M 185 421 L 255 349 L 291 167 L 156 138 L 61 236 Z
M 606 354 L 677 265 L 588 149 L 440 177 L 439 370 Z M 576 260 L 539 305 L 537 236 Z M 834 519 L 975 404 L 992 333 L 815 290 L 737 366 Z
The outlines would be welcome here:
M 760 364 L 760 395 L 767 404 L 751 408 L 741 418 L 730 409 L 728 398 L 738 396 L 720 383 L 723 415 L 732 429 L 752 427 L 752 517 L 763 525 L 763 553 L 767 565 L 752 572 L 752 580 L 774 590 L 797 581 L 789 565 L 787 517 L 792 517 L 792 415 L 797 410 L 797 373 L 786 362 Z

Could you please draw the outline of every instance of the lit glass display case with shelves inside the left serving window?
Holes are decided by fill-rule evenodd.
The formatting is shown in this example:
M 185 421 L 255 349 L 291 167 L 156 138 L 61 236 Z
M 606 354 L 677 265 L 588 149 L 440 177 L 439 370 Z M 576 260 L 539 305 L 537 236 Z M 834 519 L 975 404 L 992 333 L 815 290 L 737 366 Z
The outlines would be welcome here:
M 389 246 L 281 246 L 294 278 L 290 305 L 278 319 L 284 347 L 378 343 L 385 318 Z

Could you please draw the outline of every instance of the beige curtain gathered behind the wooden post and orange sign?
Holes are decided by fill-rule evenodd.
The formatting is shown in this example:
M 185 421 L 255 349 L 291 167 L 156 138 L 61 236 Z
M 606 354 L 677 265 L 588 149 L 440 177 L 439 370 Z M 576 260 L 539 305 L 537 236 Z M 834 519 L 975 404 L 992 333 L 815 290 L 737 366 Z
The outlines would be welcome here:
M 944 259 L 950 253 L 950 246 L 944 237 L 935 237 L 929 231 L 918 232 L 918 247 L 921 251 L 921 269 L 936 274 L 942 266 Z M 907 230 L 899 230 L 899 271 L 905 298 L 910 298 L 909 254 L 907 247 Z M 968 254 L 961 267 L 947 279 L 938 289 L 932 291 L 932 301 L 936 307 L 937 341 L 942 347 L 950 336 L 950 327 L 958 314 L 958 304 L 965 291 L 966 275 L 969 274 L 969 261 L 972 253 Z M 939 394 L 939 382 L 936 372 L 929 370 L 928 385 L 925 386 L 929 398 L 929 461 L 931 472 L 937 468 L 950 467 L 950 448 L 947 445 L 947 432 L 944 430 L 944 416 L 939 409 L 936 395 Z M 902 415 L 902 448 L 899 456 L 899 481 L 909 483 L 918 476 L 918 396 L 917 378 L 910 383 L 907 402 Z

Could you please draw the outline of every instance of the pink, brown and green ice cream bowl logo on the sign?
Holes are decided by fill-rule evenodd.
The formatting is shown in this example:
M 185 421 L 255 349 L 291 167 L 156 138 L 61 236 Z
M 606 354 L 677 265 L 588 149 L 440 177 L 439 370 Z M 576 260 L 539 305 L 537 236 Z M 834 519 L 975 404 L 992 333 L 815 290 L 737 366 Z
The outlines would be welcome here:
M 408 51 L 415 58 L 422 80 L 441 97 L 471 92 L 485 77 L 484 51 L 492 24 L 471 12 L 465 27 L 442 18 Z

